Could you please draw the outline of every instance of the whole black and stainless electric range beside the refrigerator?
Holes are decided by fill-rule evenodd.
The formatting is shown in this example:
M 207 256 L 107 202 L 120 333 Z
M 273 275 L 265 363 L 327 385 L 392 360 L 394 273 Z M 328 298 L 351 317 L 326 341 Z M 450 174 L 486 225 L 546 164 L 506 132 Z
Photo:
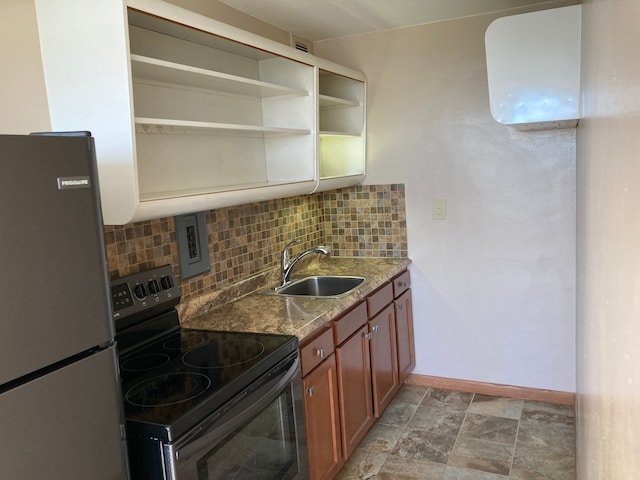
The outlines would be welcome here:
M 296 337 L 180 328 L 170 265 L 111 294 L 134 480 L 308 477 Z

